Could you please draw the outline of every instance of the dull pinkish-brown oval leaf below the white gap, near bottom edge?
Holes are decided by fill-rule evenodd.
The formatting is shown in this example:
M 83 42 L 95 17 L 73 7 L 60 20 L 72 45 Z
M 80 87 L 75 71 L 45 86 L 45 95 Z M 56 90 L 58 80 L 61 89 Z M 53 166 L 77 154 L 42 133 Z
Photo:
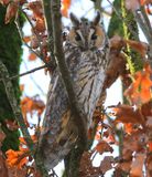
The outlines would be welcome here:
M 100 169 L 105 174 L 107 170 L 112 168 L 112 163 L 115 162 L 112 156 L 106 156 L 100 163 Z

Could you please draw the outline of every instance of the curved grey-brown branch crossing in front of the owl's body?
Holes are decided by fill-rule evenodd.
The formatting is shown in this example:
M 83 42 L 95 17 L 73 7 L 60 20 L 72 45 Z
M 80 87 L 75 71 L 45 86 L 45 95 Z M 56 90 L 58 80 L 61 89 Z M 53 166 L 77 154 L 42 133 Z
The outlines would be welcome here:
M 52 11 L 52 23 L 53 23 L 53 37 L 54 37 L 54 53 L 56 56 L 56 63 L 64 82 L 64 85 L 67 91 L 68 101 L 70 110 L 73 113 L 73 122 L 77 126 L 79 140 L 86 145 L 86 128 L 84 126 L 83 118 L 80 117 L 80 111 L 77 105 L 76 95 L 73 87 L 73 82 L 68 73 L 67 65 L 65 63 L 65 56 L 63 51 L 63 41 L 62 41 L 62 25 L 61 25 L 61 1 L 52 0 L 51 1 L 51 11 Z M 79 126 L 82 125 L 82 126 Z

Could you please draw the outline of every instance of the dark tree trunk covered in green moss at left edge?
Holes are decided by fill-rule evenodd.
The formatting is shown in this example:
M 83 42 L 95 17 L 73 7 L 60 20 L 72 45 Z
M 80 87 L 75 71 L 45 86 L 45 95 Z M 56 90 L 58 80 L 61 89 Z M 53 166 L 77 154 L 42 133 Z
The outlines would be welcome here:
M 19 73 L 21 63 L 21 40 L 14 22 L 4 24 L 6 8 L 0 4 L 0 60 L 6 64 L 10 76 Z M 22 22 L 23 23 L 23 22 Z M 20 102 L 21 92 L 19 90 L 19 80 L 12 81 L 14 93 Z M 6 119 L 14 121 L 12 108 L 8 101 L 6 90 L 2 83 L 0 83 L 0 123 L 1 128 L 7 135 L 2 144 L 2 152 L 8 149 L 19 148 L 19 131 L 10 131 L 6 126 Z

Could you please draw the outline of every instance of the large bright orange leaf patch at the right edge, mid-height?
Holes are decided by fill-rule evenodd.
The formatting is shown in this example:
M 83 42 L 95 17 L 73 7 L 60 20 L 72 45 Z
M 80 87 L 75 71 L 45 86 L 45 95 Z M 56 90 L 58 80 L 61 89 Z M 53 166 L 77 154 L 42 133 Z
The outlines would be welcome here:
M 151 80 L 152 70 L 150 65 L 145 65 L 143 71 L 139 71 L 133 76 L 133 82 L 129 88 L 126 90 L 124 95 L 132 104 L 146 103 L 152 98 Z

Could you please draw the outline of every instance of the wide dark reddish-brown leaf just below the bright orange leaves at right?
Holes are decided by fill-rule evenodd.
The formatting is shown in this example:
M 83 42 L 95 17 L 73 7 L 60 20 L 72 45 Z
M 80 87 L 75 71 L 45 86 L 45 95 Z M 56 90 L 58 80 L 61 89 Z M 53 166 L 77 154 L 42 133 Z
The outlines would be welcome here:
M 132 123 L 132 124 L 144 124 L 144 119 L 139 110 L 134 110 L 129 105 L 118 105 L 112 108 L 115 112 L 115 123 Z

